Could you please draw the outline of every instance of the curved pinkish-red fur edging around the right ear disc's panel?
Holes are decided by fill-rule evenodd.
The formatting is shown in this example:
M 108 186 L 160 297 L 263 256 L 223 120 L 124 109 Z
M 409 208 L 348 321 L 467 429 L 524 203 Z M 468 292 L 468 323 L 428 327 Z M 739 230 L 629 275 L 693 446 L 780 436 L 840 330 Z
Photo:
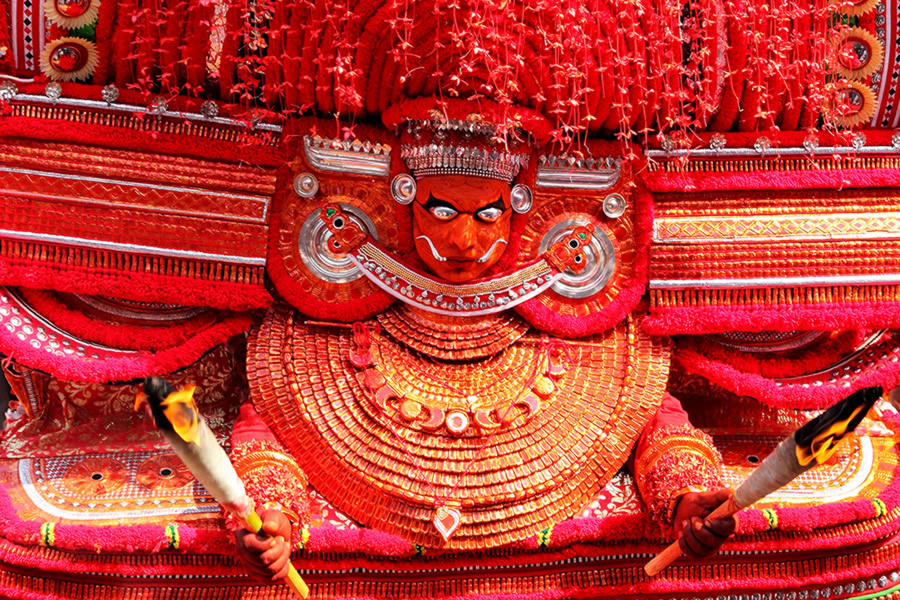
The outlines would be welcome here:
M 622 291 L 602 310 L 587 316 L 568 316 L 554 312 L 535 298 L 515 308 L 529 323 L 553 335 L 566 338 L 583 337 L 606 331 L 630 314 L 638 305 L 647 287 L 650 265 L 650 231 L 653 223 L 653 203 L 650 194 L 637 190 L 635 202 L 635 257 L 634 272 L 623 286 Z M 614 275 L 615 276 L 615 275 Z

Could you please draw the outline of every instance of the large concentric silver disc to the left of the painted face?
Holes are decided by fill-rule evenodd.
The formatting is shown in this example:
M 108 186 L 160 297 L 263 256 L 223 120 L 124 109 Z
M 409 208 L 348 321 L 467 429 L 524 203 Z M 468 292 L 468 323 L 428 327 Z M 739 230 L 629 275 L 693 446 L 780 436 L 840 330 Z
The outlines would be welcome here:
M 378 241 L 375 224 L 366 213 L 349 204 L 342 203 L 340 207 L 350 221 L 362 227 L 372 239 Z M 325 221 L 319 216 L 319 211 L 310 213 L 300 228 L 300 238 L 297 242 L 303 264 L 313 275 L 330 283 L 349 283 L 362 277 L 362 272 L 350 262 L 346 254 L 335 254 L 331 250 L 332 237 Z

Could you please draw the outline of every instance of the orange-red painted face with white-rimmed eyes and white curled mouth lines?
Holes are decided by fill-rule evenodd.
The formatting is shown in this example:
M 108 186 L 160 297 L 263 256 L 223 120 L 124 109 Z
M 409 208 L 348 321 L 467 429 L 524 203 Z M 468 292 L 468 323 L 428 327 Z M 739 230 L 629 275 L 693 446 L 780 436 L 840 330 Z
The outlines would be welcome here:
M 432 273 L 462 283 L 500 260 L 512 212 L 508 184 L 470 175 L 433 175 L 416 183 L 413 236 Z

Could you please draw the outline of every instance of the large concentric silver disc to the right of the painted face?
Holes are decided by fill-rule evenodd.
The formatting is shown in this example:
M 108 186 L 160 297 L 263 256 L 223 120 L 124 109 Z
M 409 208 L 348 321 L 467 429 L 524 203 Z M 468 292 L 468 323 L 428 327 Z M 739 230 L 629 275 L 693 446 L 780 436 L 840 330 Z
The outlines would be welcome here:
M 591 225 L 587 219 L 567 219 L 554 225 L 544 235 L 538 251 L 543 254 L 555 242 L 572 233 L 576 227 Z M 581 273 L 566 271 L 562 278 L 553 284 L 552 290 L 566 298 L 589 298 L 602 290 L 616 270 L 616 252 L 612 241 L 603 229 L 594 226 L 591 243 L 584 247 L 587 264 Z

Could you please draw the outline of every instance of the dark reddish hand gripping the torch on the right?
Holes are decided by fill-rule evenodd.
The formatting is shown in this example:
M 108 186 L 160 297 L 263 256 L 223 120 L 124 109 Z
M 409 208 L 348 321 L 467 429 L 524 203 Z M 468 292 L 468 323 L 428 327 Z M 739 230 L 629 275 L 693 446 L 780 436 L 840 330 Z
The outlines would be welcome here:
M 709 556 L 734 533 L 734 517 L 707 519 L 707 515 L 728 500 L 731 490 L 690 492 L 681 497 L 675 509 L 675 533 L 681 533 L 678 545 L 693 558 Z

